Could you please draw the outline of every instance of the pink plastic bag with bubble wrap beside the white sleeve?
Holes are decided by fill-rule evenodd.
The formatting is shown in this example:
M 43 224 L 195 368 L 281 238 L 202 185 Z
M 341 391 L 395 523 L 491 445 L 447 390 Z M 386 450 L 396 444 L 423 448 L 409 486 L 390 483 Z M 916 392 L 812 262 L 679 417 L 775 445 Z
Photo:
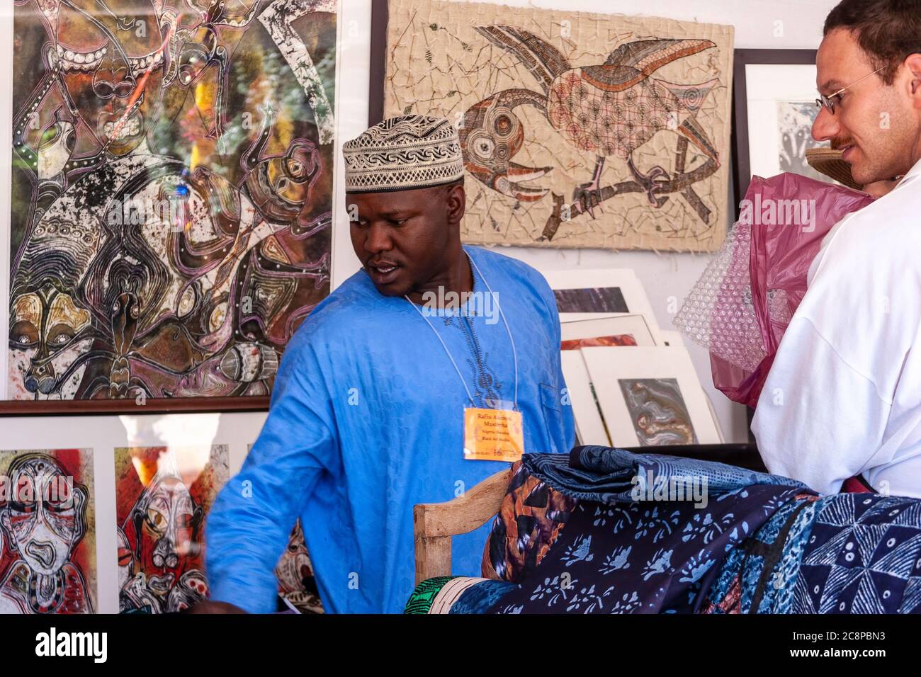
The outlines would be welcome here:
M 752 178 L 740 220 L 674 321 L 710 351 L 713 384 L 730 400 L 758 402 L 822 238 L 871 202 L 865 193 L 799 174 Z

